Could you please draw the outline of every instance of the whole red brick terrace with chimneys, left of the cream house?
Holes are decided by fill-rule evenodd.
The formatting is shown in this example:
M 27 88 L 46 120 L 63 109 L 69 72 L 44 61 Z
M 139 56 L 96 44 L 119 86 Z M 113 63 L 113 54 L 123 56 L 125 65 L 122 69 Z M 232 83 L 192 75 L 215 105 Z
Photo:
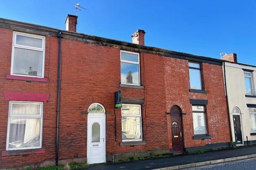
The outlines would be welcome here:
M 229 146 L 221 60 L 145 46 L 143 30 L 133 43 L 77 33 L 76 22 L 0 19 L 0 168 Z

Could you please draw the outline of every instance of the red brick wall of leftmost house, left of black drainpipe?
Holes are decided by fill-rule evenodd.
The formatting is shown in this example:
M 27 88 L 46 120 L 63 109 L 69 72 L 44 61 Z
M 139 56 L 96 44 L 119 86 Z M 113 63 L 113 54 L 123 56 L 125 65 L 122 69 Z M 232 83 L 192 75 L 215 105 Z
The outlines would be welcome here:
M 28 92 L 50 94 L 48 102 L 44 103 L 43 111 L 43 143 L 45 153 L 28 154 L 17 156 L 0 156 L 0 168 L 7 166 L 25 166 L 28 164 L 39 164 L 44 161 L 55 159 L 55 114 L 56 114 L 56 92 L 57 92 L 57 58 L 58 39 L 46 37 L 45 48 L 45 77 L 48 82 L 25 83 L 21 80 L 7 80 L 10 74 L 11 51 L 13 31 L 0 28 L 0 154 L 6 150 L 7 120 L 9 113 L 9 101 L 4 99 L 4 92 Z

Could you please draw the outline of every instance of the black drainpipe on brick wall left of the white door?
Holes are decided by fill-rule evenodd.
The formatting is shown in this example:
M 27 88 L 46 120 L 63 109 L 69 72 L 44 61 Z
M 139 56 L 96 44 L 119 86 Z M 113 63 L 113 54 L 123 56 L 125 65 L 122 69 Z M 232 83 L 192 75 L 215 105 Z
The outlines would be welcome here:
M 56 118 L 56 162 L 55 166 L 59 165 L 59 113 L 60 113 L 60 69 L 61 69 L 61 38 L 63 35 L 61 32 L 57 33 L 59 38 L 59 53 L 58 53 L 58 88 L 57 88 L 57 118 Z

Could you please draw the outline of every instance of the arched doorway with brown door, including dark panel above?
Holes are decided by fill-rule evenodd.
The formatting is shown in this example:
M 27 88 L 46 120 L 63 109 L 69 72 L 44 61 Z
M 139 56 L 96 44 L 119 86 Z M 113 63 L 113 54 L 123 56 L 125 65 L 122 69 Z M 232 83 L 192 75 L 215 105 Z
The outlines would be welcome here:
M 183 152 L 181 109 L 171 107 L 172 149 L 175 153 Z

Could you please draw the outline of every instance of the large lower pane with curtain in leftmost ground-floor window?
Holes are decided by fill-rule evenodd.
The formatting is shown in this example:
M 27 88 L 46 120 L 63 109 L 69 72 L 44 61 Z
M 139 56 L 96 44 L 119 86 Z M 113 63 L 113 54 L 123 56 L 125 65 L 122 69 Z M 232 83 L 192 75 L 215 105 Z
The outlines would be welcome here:
M 10 118 L 9 148 L 40 146 L 40 118 Z

